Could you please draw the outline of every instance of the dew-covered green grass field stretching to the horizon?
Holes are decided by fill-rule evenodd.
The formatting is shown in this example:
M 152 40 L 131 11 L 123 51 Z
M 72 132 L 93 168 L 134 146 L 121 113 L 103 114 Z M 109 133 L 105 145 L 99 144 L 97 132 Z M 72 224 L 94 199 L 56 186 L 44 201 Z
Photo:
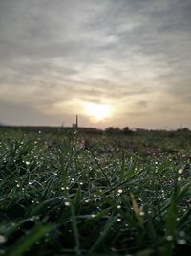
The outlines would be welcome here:
M 0 255 L 190 255 L 191 132 L 0 128 Z

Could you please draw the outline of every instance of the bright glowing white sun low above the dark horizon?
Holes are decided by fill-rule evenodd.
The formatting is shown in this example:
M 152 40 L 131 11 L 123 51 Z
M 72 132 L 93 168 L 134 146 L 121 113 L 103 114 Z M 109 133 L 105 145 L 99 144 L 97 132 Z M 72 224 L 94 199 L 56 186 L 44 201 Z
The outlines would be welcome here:
M 85 113 L 95 121 L 103 121 L 110 116 L 111 108 L 108 105 L 87 103 L 85 104 Z

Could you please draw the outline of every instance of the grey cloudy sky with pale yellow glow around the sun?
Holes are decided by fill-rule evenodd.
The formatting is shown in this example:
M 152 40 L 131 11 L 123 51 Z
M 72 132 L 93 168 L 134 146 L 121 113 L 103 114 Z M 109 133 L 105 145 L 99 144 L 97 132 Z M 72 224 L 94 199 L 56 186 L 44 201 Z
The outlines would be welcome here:
M 0 123 L 191 128 L 191 0 L 0 0 Z

